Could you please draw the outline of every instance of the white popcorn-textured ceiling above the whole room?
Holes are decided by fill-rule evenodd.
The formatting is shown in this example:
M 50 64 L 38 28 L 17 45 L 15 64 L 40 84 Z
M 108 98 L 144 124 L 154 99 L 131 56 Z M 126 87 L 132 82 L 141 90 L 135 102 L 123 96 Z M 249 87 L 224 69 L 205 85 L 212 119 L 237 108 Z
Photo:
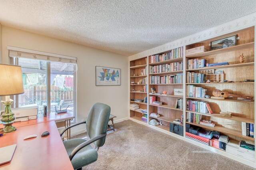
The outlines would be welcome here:
M 0 22 L 132 55 L 256 12 L 256 0 L 1 0 Z

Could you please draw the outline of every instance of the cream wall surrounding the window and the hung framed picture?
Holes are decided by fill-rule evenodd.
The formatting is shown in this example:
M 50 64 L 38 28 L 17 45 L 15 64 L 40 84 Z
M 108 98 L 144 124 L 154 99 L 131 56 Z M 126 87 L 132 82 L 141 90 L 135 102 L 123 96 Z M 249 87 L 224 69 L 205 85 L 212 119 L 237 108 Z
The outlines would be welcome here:
M 90 107 L 101 102 L 111 107 L 115 121 L 128 119 L 128 57 L 14 28 L 2 28 L 2 62 L 8 63 L 7 46 L 77 57 L 77 120 L 86 119 Z M 95 66 L 121 69 L 120 86 L 96 86 Z M 79 129 L 73 130 L 77 131 Z

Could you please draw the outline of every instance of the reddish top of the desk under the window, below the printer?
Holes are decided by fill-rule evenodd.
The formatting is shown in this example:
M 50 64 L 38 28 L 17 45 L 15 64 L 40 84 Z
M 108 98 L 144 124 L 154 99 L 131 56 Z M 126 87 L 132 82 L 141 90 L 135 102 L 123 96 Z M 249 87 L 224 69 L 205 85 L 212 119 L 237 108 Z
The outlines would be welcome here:
M 42 116 L 42 115 L 41 115 Z M 45 123 L 45 122 L 50 122 L 50 121 L 64 121 L 67 119 L 74 119 L 73 113 L 66 112 L 66 113 L 59 113 L 56 114 L 55 112 L 48 113 L 47 117 L 38 117 L 37 119 L 29 120 L 29 121 L 24 121 L 24 122 L 15 122 L 13 123 L 13 126 L 18 128 L 18 127 L 24 127 L 28 125 L 35 125 L 38 123 Z M 4 128 L 2 124 L 0 124 L 0 128 Z

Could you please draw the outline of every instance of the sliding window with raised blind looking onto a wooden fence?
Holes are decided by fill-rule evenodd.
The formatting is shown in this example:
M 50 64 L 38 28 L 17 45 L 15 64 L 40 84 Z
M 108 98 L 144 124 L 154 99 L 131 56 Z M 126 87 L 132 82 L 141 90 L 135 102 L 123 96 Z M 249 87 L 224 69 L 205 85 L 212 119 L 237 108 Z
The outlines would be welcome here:
M 34 57 L 34 54 L 31 58 L 30 53 L 25 54 L 20 57 L 17 51 L 9 51 L 10 63 L 22 67 L 24 86 L 24 94 L 14 97 L 14 107 L 38 105 L 38 114 L 43 114 L 46 105 L 48 112 L 67 108 L 76 115 L 76 63 L 60 62 L 60 58 L 51 61 L 48 56 Z

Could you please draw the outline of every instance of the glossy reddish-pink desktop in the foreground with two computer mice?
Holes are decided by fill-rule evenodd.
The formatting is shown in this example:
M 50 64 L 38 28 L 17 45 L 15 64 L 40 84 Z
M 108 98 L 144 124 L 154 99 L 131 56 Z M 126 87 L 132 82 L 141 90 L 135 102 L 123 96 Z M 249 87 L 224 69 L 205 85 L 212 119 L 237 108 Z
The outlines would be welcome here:
M 41 137 L 44 131 L 49 131 L 50 135 Z M 23 140 L 31 134 L 37 137 Z M 1 165 L 1 170 L 73 169 L 54 121 L 20 127 L 0 137 L 0 147 L 12 144 L 17 144 L 12 161 Z

